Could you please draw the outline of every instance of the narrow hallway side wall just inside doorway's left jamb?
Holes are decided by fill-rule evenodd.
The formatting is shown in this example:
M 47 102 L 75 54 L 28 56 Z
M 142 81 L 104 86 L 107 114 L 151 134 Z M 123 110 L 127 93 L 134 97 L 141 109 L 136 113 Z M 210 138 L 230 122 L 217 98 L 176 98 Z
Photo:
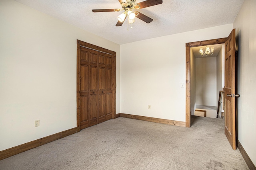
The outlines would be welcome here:
M 190 48 L 190 111 L 194 115 L 196 110 L 196 58 Z

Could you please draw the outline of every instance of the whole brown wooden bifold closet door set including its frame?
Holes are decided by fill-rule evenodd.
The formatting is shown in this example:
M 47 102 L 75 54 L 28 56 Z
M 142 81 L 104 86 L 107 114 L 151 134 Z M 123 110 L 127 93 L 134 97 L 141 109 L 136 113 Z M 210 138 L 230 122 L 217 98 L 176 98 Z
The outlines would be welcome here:
M 77 127 L 80 131 L 115 117 L 115 52 L 78 42 Z

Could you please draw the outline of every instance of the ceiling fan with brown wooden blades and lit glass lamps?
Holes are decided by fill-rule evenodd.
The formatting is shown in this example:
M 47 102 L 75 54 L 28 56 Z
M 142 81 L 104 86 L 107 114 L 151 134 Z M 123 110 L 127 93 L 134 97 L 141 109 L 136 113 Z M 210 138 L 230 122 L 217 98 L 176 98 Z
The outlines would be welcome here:
M 136 4 L 136 0 L 118 0 L 122 6 L 122 9 L 99 9 L 99 10 L 92 10 L 92 12 L 119 12 L 124 11 L 122 14 L 120 14 L 118 18 L 118 22 L 116 23 L 116 26 L 121 26 L 124 23 L 124 20 L 128 17 L 128 24 L 132 24 L 135 22 L 135 17 L 139 18 L 142 21 L 145 21 L 146 23 L 150 23 L 153 21 L 152 18 L 149 18 L 148 16 L 145 16 L 144 14 L 132 10 L 139 10 L 142 8 L 146 8 L 149 6 L 154 6 L 158 4 L 162 4 L 162 0 L 145 0 L 143 2 L 139 2 Z

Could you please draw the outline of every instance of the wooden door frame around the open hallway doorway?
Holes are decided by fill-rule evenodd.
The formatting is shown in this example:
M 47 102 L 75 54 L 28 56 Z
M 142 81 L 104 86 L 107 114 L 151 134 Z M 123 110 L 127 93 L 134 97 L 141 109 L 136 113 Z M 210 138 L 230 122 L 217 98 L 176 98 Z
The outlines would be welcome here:
M 186 43 L 186 127 L 190 127 L 190 48 L 204 45 L 224 44 L 226 38 L 210 39 L 206 41 L 196 41 Z

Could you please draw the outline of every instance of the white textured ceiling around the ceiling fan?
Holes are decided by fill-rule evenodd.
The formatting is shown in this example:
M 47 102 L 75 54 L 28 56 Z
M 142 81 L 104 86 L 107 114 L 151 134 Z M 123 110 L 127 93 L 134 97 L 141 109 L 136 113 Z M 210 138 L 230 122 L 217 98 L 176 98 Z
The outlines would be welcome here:
M 135 18 L 116 27 L 122 12 L 92 12 L 121 8 L 118 0 L 16 0 L 117 44 L 233 23 L 244 0 L 163 0 L 162 4 L 138 10 L 153 19 Z M 136 3 L 144 0 L 136 0 Z

